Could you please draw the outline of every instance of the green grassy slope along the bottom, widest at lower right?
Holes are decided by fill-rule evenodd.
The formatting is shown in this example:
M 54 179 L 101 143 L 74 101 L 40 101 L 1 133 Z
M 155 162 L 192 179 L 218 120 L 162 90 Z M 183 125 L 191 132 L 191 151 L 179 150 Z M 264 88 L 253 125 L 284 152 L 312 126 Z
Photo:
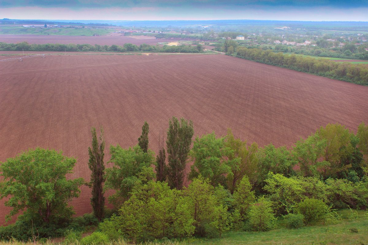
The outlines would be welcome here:
M 147 245 L 367 245 L 368 244 L 368 217 L 365 211 L 341 210 L 337 212 L 341 220 L 337 224 L 305 226 L 290 230 L 284 226 L 265 232 L 230 232 L 222 238 L 201 239 L 188 238 L 183 242 L 162 241 L 148 242 Z M 353 216 L 352 216 L 353 215 Z M 357 232 L 353 232 L 353 231 Z M 47 241 L 46 244 L 59 244 Z M 31 245 L 39 243 L 0 242 L 0 245 Z M 123 240 L 110 242 L 106 245 L 128 245 Z M 79 245 L 76 241 L 70 245 Z

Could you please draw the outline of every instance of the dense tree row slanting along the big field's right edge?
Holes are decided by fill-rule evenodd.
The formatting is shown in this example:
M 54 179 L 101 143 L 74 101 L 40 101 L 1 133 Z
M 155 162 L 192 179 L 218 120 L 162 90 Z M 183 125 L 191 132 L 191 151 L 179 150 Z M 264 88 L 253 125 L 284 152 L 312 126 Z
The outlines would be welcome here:
M 261 50 L 258 48 L 239 48 L 236 56 L 263 64 L 276 65 L 345 82 L 368 85 L 368 66 L 365 64 L 340 63 L 328 59 L 303 57 L 296 54 L 275 53 L 272 50 Z

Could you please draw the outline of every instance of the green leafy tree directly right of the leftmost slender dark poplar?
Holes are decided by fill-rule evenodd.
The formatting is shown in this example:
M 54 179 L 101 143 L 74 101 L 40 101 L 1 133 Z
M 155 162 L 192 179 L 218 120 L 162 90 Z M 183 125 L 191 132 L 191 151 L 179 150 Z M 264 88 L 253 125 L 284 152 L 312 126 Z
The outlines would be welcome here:
M 129 196 L 132 188 L 138 183 L 146 183 L 153 178 L 153 152 L 143 152 L 136 145 L 123 149 L 120 145 L 110 146 L 111 159 L 114 166 L 106 169 L 106 189 L 114 189 L 116 193 L 108 198 L 118 208 Z

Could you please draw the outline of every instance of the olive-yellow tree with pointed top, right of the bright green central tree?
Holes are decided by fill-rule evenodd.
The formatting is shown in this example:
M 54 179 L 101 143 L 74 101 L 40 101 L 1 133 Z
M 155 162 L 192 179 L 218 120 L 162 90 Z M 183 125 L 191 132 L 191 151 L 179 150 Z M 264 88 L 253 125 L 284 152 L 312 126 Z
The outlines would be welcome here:
M 247 141 L 241 141 L 240 138 L 235 139 L 231 129 L 227 129 L 225 147 L 227 151 L 227 165 L 231 171 L 227 175 L 229 181 L 229 189 L 234 192 L 236 185 L 247 176 L 251 183 L 255 183 L 258 171 L 254 171 L 258 164 L 258 145 L 252 143 L 247 147 Z

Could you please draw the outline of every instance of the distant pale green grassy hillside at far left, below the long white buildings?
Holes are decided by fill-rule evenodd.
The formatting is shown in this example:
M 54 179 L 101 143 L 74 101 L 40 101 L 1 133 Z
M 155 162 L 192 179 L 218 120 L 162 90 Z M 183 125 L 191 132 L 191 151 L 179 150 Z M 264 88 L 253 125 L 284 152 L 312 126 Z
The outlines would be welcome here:
M 84 29 L 84 28 L 26 28 L 1 26 L 0 34 L 13 35 L 62 35 L 62 36 L 93 36 L 93 34 L 107 35 L 111 30 L 105 29 Z

